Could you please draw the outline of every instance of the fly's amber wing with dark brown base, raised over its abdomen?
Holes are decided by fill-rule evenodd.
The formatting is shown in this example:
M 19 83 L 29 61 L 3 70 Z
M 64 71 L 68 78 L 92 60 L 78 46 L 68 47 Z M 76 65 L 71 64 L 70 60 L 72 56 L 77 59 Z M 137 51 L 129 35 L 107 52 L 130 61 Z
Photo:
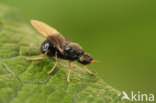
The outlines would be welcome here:
M 31 20 L 31 24 L 33 27 L 41 33 L 44 37 L 46 37 L 56 48 L 63 52 L 62 45 L 64 42 L 71 42 L 65 36 L 60 34 L 56 29 L 50 27 L 46 23 L 37 20 Z

